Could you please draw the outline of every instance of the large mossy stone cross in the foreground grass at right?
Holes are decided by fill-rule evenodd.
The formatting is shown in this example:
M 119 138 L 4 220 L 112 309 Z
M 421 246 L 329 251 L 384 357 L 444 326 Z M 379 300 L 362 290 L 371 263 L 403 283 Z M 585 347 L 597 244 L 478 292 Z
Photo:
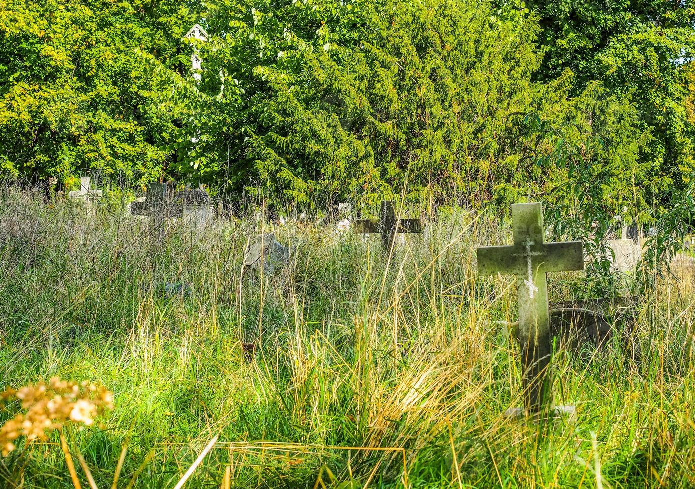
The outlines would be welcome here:
M 583 270 L 584 256 L 581 241 L 543 243 L 541 203 L 512 204 L 512 227 L 512 246 L 477 249 L 477 270 L 516 275 L 524 408 L 537 413 L 552 402 L 546 273 Z

